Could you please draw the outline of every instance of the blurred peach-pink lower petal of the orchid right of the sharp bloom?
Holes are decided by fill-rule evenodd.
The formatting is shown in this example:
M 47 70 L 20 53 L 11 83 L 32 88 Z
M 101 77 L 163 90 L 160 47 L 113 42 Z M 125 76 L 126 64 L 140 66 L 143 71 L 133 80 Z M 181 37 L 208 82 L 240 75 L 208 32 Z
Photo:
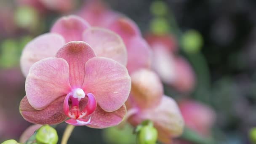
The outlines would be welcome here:
M 180 136 L 183 132 L 184 121 L 179 107 L 171 97 L 163 96 L 158 107 L 145 109 L 131 116 L 128 121 L 132 125 L 138 125 L 143 120 L 152 120 L 159 133 L 158 139 L 170 142 L 172 137 Z

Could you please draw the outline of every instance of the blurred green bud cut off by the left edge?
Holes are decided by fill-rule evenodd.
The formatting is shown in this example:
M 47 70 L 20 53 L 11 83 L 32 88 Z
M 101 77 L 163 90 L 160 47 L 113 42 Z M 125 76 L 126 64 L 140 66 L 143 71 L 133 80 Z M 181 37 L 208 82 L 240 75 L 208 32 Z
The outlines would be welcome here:
M 18 65 L 19 51 L 15 40 L 5 40 L 0 45 L 0 67 L 9 68 Z

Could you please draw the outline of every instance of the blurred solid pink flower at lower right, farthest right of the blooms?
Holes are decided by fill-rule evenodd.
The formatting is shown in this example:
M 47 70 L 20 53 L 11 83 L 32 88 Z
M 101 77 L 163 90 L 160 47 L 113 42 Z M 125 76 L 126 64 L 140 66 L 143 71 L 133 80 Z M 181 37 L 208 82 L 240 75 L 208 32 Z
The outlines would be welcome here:
M 216 119 L 214 110 L 197 101 L 183 100 L 179 102 L 181 114 L 188 128 L 202 136 L 209 136 Z

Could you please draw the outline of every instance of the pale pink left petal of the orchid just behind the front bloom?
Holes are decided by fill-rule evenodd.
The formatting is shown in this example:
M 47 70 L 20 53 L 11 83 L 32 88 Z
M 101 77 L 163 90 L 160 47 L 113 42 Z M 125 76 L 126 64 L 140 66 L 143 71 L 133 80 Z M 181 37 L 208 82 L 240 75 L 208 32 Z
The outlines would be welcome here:
M 20 63 L 24 76 L 27 76 L 32 64 L 44 58 L 54 57 L 64 44 L 64 38 L 53 33 L 40 35 L 29 42 L 21 54 Z

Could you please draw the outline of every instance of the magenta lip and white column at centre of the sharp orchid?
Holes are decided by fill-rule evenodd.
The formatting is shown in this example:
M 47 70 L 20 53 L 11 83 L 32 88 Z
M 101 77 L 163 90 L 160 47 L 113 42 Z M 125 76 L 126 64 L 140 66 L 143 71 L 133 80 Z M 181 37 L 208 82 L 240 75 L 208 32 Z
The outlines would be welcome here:
M 80 107 L 81 101 L 88 97 L 85 107 Z M 92 93 L 87 93 L 81 88 L 73 89 L 64 99 L 63 109 L 64 113 L 71 119 L 66 120 L 66 123 L 72 125 L 87 125 L 91 123 L 91 117 L 89 120 L 83 119 L 84 117 L 91 115 L 97 107 L 97 102 Z

